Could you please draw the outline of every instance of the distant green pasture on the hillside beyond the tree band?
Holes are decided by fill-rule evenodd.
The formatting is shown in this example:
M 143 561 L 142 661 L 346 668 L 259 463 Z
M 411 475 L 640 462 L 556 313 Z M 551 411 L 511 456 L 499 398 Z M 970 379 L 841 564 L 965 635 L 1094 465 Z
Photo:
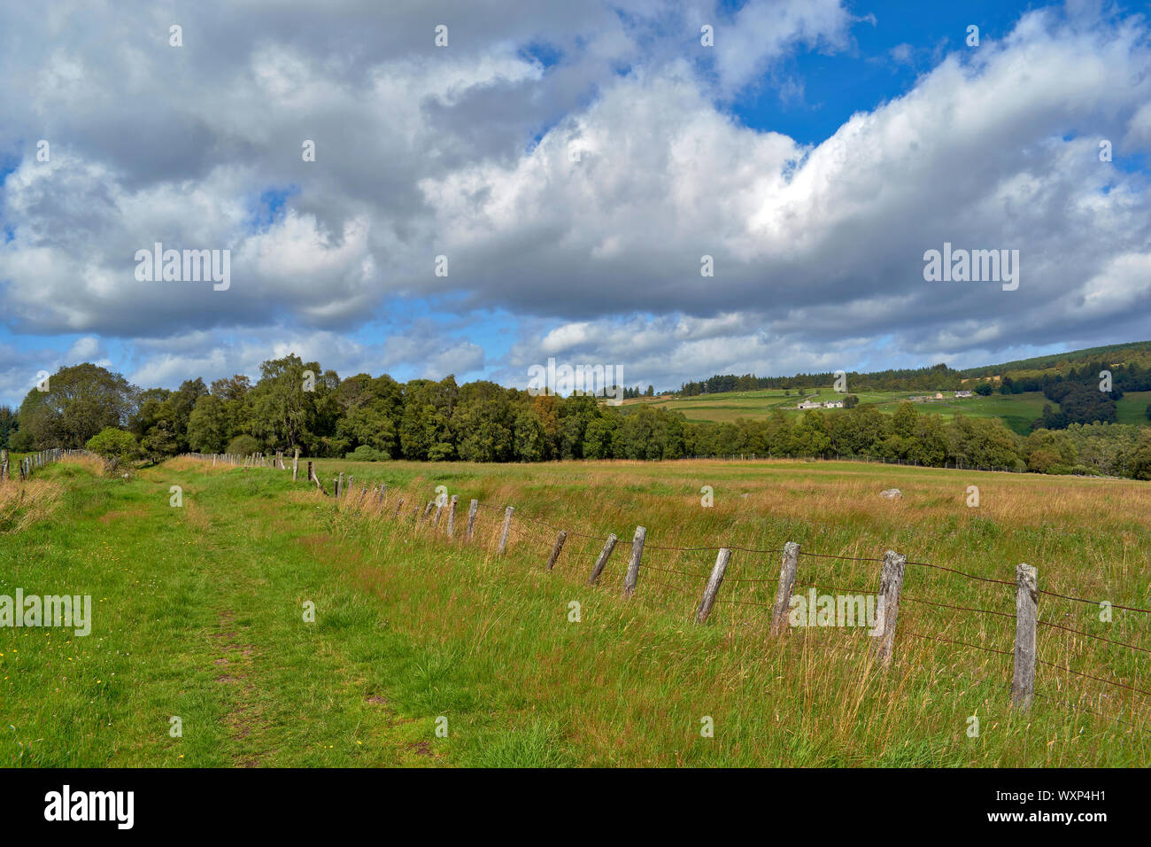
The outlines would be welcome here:
M 892 415 L 899 404 L 910 396 L 924 394 L 925 392 L 855 392 L 861 404 L 874 404 L 881 411 Z M 1049 403 L 1042 392 L 1024 392 L 1022 394 L 991 394 L 985 398 L 974 396 L 956 399 L 954 392 L 943 392 L 944 399 L 940 401 L 917 403 L 916 408 L 928 415 L 939 415 L 950 421 L 958 414 L 968 417 L 998 417 L 1009 429 L 1020 434 L 1027 434 L 1031 430 L 1031 423 L 1043 415 L 1043 404 Z M 1120 402 L 1120 416 L 1125 414 L 1122 409 L 1130 409 L 1127 414 L 1133 416 L 1135 404 L 1138 404 L 1138 414 L 1142 415 L 1149 400 L 1143 400 L 1139 404 L 1138 395 L 1133 394 L 1133 400 L 1128 403 L 1125 398 Z M 730 392 L 724 394 L 703 394 L 692 398 L 637 398 L 625 401 L 625 404 L 649 403 L 674 411 L 681 411 L 684 417 L 693 422 L 726 422 L 746 418 L 767 418 L 777 409 L 782 409 L 787 415 L 802 414 L 795 407 L 800 400 L 841 400 L 843 394 L 837 394 L 831 388 L 811 391 L 802 396 L 792 392 L 784 396 L 783 391 L 747 391 Z M 1125 406 L 1126 404 L 1126 406 Z M 1146 422 L 1145 416 L 1143 422 Z M 1121 423 L 1138 423 L 1130 419 Z

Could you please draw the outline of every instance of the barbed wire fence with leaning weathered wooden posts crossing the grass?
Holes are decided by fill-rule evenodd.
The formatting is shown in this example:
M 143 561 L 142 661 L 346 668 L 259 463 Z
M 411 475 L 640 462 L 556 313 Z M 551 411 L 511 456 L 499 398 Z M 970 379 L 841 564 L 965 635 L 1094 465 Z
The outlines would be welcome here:
M 188 455 L 199 461 L 212 461 L 213 464 L 287 469 L 282 454 L 272 459 L 260 454 L 228 459 Z M 298 455 L 292 461 L 294 478 L 297 461 Z M 327 493 L 313 463 L 307 466 L 308 479 Z M 472 499 L 465 519 L 459 511 L 458 496 L 449 497 L 441 492 L 425 500 L 410 491 L 392 490 L 389 493 L 386 484 L 367 483 L 361 483 L 357 490 L 355 477 L 349 476 L 345 481 L 343 472 L 333 479 L 333 490 L 341 509 L 404 523 L 450 543 L 479 545 L 496 555 L 526 549 L 540 559 L 548 572 L 556 568 L 571 570 L 581 562 L 585 566 L 594 562 L 588 573 L 588 584 L 602 584 L 604 575 L 610 574 L 612 578 L 622 580 L 625 597 L 634 596 L 640 585 L 653 587 L 674 602 L 688 603 L 689 613 L 700 626 L 718 614 L 726 614 L 733 621 L 739 614 L 757 615 L 761 621 L 770 614 L 771 635 L 780 637 L 794 626 L 845 626 L 840 620 L 845 611 L 856 615 L 855 622 L 846 626 L 862 628 L 859 622 L 862 611 L 869 635 L 868 652 L 883 667 L 892 663 L 898 632 L 901 638 L 914 638 L 932 646 L 946 644 L 952 655 L 958 650 L 975 650 L 994 657 L 1000 663 L 1000 671 L 1011 671 L 1009 681 L 993 683 L 984 679 L 968 679 L 974 685 L 1001 685 L 1009 689 L 1011 703 L 1020 710 L 1029 709 L 1032 699 L 1041 697 L 1123 724 L 1129 729 L 1142 731 L 1146 725 L 1148 702 L 1141 698 L 1151 697 L 1151 688 L 1142 681 L 1141 674 L 1151 646 L 1091 633 L 1069 626 L 1066 620 L 1041 618 L 1039 598 L 1050 598 L 1045 607 L 1050 603 L 1092 606 L 1098 611 L 1099 623 L 1112 623 L 1114 613 L 1122 612 L 1126 613 L 1120 621 L 1123 626 L 1145 621 L 1145 615 L 1151 615 L 1151 608 L 1039 588 L 1038 570 L 1026 564 L 1016 566 L 1014 580 L 1004 580 L 932 562 L 910 561 L 894 551 L 875 558 L 816 553 L 802 550 L 795 542 L 787 542 L 782 547 L 653 544 L 648 543 L 647 528 L 642 525 L 635 527 L 628 549 L 619 544 L 622 538 L 613 532 L 601 536 L 574 530 L 570 523 L 547 521 L 513 506 L 491 506 Z M 709 558 L 715 554 L 710 569 L 701 569 L 701 554 Z M 765 568 L 762 558 L 756 558 L 765 555 L 780 557 L 778 574 Z M 821 564 L 831 565 L 831 578 L 820 572 Z M 909 567 L 913 573 L 922 569 L 920 572 L 925 575 L 946 575 L 945 588 L 974 590 L 978 599 L 945 602 L 952 598 L 928 597 L 923 592 L 933 587 L 930 578 L 917 581 L 912 591 L 905 592 L 905 575 Z M 841 570 L 838 576 L 834 568 Z M 796 589 L 806 589 L 807 595 L 796 595 Z M 834 596 L 818 595 L 820 590 Z M 871 614 L 867 613 L 868 597 L 874 597 L 875 612 Z M 997 604 L 1001 607 L 993 607 Z M 905 611 L 901 606 L 909 608 Z M 806 621 L 798 619 L 801 615 L 796 610 L 802 610 Z M 1065 612 L 1064 618 L 1070 614 Z M 940 620 L 939 615 L 945 617 Z M 1007 621 L 1014 621 L 1014 633 L 1009 632 L 1009 625 L 1008 632 L 1004 632 Z M 1061 661 L 1039 658 L 1041 632 L 1044 633 L 1042 643 L 1047 656 Z M 1145 629 L 1139 635 L 1145 636 Z M 1113 671 L 1129 671 L 1130 678 L 1115 679 L 1073 667 L 1073 651 L 1088 643 L 1106 645 L 1111 651 L 1107 664 Z M 1009 665 L 1001 657 L 1011 657 Z M 1039 667 L 1054 672 L 1050 675 L 1045 673 L 1045 678 L 1055 689 L 1055 695 L 1036 690 Z M 963 675 L 954 667 L 951 671 Z M 1066 693 L 1070 690 L 1073 680 L 1089 680 L 1104 688 L 1081 690 L 1078 696 L 1068 699 Z M 1114 713 L 1116 704 L 1127 710 L 1128 717 L 1142 716 L 1142 719 L 1118 717 Z

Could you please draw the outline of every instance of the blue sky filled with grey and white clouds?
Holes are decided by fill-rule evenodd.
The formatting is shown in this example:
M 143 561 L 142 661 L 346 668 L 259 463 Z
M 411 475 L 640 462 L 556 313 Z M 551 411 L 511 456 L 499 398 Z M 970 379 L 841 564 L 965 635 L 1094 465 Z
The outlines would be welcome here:
M 0 403 L 85 361 L 671 390 L 1149 340 L 1149 16 L 5 3 Z M 227 285 L 150 277 L 157 243 L 228 251 Z M 925 279 L 945 243 L 1017 286 Z

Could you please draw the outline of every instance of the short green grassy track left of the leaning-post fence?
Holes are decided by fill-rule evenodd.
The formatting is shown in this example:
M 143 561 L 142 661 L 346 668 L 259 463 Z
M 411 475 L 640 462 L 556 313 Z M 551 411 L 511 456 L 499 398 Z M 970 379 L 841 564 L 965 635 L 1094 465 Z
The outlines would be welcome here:
M 5 539 L 0 593 L 90 593 L 92 632 L 0 629 L 0 763 L 441 761 L 433 720 L 399 717 L 383 693 L 392 637 L 341 567 L 356 552 L 317 534 L 314 500 L 268 474 L 44 476 L 67 482 L 62 501 Z

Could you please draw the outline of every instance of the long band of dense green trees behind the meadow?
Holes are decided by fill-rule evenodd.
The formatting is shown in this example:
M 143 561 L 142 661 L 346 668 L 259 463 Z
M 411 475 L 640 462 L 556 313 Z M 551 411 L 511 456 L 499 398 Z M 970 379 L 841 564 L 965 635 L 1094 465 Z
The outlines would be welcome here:
M 1068 399 L 1093 368 L 1042 386 L 1062 393 L 1062 400 L 1052 398 L 1062 403 L 1059 414 L 1067 416 Z M 1123 380 L 1134 385 L 1146 376 L 1125 373 Z M 1095 395 L 1091 402 L 1111 403 L 1113 419 L 1113 400 L 1098 386 Z M 0 409 L 0 434 L 15 451 L 86 446 L 121 461 L 295 447 L 308 456 L 475 462 L 867 455 L 935 467 L 1151 479 L 1151 428 L 1058 423 L 1022 438 L 994 418 L 945 422 L 913 403 L 902 403 L 894 415 L 861 404 L 798 416 L 777 411 L 762 421 L 688 423 L 679 413 L 648 404 L 532 396 L 489 381 L 457 385 L 453 377 L 398 383 L 358 373 L 341 379 L 295 355 L 265 362 L 254 384 L 245 376 L 211 385 L 192 379 L 176 391 L 140 390 L 85 363 L 62 368 L 48 391 L 29 392 L 18 414 Z

